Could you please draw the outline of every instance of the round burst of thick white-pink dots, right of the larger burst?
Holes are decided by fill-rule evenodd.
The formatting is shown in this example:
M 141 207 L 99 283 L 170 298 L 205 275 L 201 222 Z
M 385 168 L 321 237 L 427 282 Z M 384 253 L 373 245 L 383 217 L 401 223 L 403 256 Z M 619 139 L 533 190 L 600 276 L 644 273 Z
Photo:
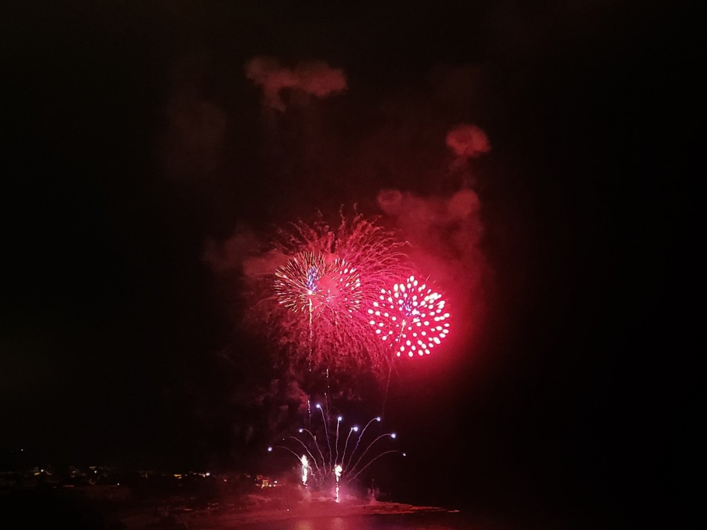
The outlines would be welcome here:
M 398 357 L 428 355 L 449 333 L 444 298 L 415 276 L 381 289 L 378 298 L 368 310 L 368 323 Z

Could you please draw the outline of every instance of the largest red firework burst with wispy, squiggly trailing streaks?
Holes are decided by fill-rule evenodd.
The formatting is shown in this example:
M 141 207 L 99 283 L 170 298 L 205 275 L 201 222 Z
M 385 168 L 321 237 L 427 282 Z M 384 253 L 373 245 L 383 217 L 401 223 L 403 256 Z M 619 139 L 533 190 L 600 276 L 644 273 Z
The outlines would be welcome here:
M 395 356 L 371 333 L 366 308 L 409 268 L 407 243 L 376 220 L 341 214 L 330 226 L 320 214 L 312 224 L 276 232 L 269 255 L 281 263 L 249 278 L 256 302 L 245 313 L 245 324 L 276 346 L 275 364 L 306 374 L 328 367 L 351 377 L 365 368 L 387 377 Z

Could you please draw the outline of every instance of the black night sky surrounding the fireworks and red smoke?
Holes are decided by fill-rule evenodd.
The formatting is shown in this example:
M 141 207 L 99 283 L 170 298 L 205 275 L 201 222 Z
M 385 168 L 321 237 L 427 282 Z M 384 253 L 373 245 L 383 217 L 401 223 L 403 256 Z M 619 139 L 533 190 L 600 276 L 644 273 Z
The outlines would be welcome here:
M 390 398 L 445 484 L 416 495 L 614 524 L 670 493 L 699 350 L 689 13 L 378 4 L 4 4 L 0 447 L 235 465 L 248 365 L 219 353 L 258 345 L 207 249 L 315 208 L 378 215 L 385 189 L 424 206 L 469 187 L 483 324 Z M 254 58 L 334 77 L 267 98 Z M 490 149 L 455 156 L 459 124 Z

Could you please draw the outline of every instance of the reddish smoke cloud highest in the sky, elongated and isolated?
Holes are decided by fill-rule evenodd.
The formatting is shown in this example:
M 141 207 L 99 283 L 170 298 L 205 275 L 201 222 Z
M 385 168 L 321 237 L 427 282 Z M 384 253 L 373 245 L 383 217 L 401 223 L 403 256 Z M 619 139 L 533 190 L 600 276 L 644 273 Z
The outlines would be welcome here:
M 245 64 L 245 76 L 262 87 L 264 105 L 284 112 L 282 99 L 285 89 L 325 98 L 346 90 L 346 75 L 341 69 L 332 69 L 324 61 L 300 62 L 295 68 L 281 66 L 273 57 L 254 57 Z

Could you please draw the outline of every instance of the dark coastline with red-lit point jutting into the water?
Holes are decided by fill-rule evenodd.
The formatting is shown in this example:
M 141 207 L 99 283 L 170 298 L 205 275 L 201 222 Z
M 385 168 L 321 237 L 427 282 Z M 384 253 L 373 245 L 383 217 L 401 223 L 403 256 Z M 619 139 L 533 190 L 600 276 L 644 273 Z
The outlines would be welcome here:
M 71 485 L 3 490 L 0 511 L 25 527 L 69 526 L 77 530 L 216 530 L 261 528 L 291 519 L 312 520 L 431 512 L 436 506 L 342 496 L 302 495 L 300 488 L 244 492 L 185 488 L 146 490 L 128 485 Z

